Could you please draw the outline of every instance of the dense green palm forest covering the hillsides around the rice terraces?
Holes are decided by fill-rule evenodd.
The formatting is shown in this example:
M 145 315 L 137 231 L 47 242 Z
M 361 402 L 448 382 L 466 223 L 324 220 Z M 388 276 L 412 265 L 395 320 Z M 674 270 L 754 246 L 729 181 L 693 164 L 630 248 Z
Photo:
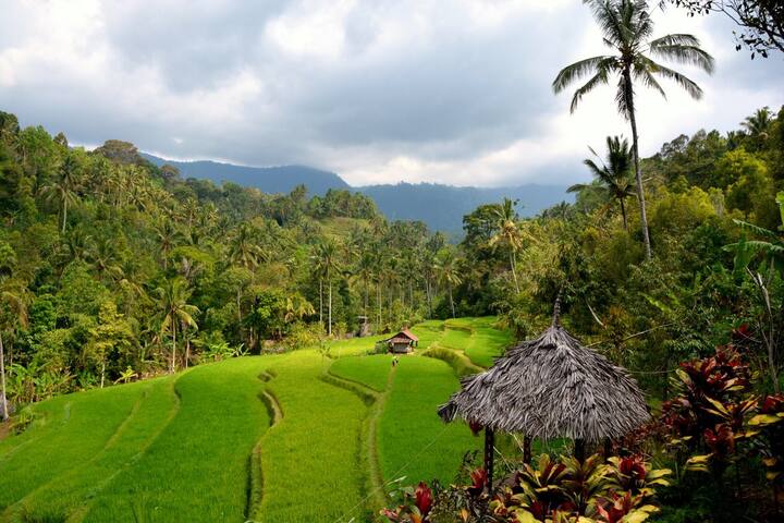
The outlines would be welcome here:
M 532 219 L 511 200 L 480 206 L 452 245 L 422 223 L 388 222 L 360 194 L 183 180 L 127 143 L 90 153 L 10 113 L 0 122 L 12 405 L 344 336 L 362 316 L 388 331 L 500 314 L 523 338 L 559 293 L 567 325 L 653 373 L 641 380 L 662 394 L 656 373 L 742 327 L 757 332 L 745 343 L 765 379 L 775 375 L 784 112 L 682 135 L 644 159 L 651 259 L 622 138 L 586 160 L 596 178 L 571 188 L 575 204 Z

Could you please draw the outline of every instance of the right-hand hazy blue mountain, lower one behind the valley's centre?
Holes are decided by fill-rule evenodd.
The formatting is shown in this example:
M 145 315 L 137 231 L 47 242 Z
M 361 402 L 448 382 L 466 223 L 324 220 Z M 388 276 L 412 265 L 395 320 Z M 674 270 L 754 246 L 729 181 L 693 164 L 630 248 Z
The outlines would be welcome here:
M 456 187 L 433 183 L 399 183 L 354 187 L 376 200 L 379 209 L 392 220 L 421 220 L 430 229 L 460 233 L 463 216 L 478 206 L 519 200 L 520 216 L 535 216 L 560 202 L 572 202 L 565 185 L 527 184 L 514 187 Z

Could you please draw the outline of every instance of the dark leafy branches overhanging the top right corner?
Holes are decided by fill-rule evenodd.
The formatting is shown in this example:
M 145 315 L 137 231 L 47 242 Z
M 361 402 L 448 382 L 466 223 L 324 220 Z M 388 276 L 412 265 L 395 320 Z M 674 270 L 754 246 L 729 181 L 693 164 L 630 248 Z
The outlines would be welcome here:
M 784 52 L 784 3 L 781 0 L 667 0 L 690 14 L 722 13 L 739 26 L 733 32 L 737 45 L 756 54 L 768 58 L 769 51 Z M 660 2 L 664 4 L 665 1 Z

